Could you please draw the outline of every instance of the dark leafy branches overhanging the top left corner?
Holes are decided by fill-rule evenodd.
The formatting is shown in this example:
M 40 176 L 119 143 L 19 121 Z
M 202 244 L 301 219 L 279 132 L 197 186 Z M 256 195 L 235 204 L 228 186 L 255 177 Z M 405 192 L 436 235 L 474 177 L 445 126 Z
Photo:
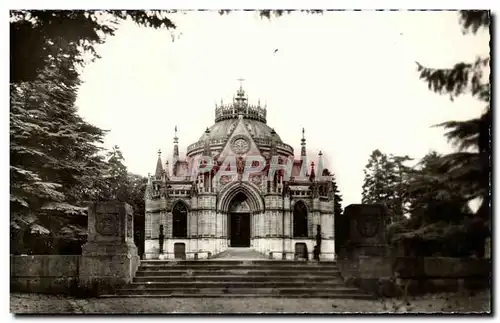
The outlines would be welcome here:
M 10 12 L 10 82 L 33 81 L 60 61 L 76 65 L 98 55 L 95 44 L 113 35 L 121 20 L 141 26 L 175 28 L 160 10 L 13 10 Z

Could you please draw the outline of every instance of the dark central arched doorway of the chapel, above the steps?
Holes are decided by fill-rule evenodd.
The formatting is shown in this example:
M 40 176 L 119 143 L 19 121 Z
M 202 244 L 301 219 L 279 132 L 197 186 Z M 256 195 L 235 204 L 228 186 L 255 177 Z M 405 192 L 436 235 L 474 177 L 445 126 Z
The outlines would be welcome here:
M 250 206 L 247 196 L 239 192 L 229 207 L 228 232 L 231 247 L 250 247 Z

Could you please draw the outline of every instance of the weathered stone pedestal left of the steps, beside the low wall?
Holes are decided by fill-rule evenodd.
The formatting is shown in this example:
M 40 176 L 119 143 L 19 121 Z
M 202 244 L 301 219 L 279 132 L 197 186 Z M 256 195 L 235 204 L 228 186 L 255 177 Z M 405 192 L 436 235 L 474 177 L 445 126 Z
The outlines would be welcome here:
M 123 202 L 95 202 L 89 207 L 88 241 L 82 247 L 79 273 L 83 291 L 108 293 L 132 280 L 140 262 L 133 214 Z

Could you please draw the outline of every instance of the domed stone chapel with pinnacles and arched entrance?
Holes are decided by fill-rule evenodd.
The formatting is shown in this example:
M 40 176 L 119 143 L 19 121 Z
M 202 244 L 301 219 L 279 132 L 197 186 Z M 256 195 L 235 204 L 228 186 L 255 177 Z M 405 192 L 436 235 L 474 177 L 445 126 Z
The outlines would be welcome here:
M 159 155 L 146 188 L 146 259 L 207 258 L 229 247 L 294 259 L 297 244 L 312 255 L 317 225 L 321 258 L 334 258 L 332 178 L 319 176 L 321 152 L 316 164 L 307 161 L 303 131 L 296 160 L 266 114 L 240 87 L 232 103 L 216 105 L 215 124 L 188 146 L 185 159 L 176 129 L 172 163 L 164 166 Z

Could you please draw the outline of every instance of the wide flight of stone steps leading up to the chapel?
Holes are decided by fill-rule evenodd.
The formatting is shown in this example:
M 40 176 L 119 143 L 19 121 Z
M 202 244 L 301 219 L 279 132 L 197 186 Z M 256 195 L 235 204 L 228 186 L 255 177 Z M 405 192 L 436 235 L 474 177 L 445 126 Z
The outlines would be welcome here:
M 336 262 L 143 260 L 130 284 L 102 297 L 373 298 L 345 286 Z

